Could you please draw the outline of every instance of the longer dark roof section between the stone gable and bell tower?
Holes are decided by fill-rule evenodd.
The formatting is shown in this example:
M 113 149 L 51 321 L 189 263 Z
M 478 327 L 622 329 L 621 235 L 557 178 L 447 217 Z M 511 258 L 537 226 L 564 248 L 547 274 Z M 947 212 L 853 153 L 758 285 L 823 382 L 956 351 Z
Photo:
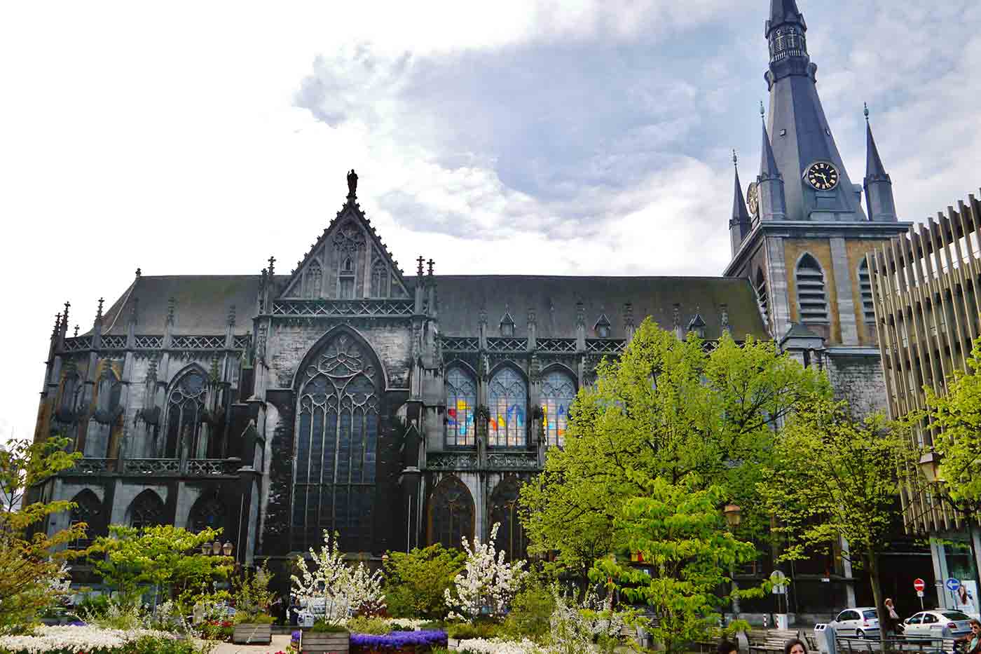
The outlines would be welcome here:
M 475 336 L 481 309 L 487 311 L 490 336 L 497 336 L 495 316 L 533 309 L 539 338 L 575 338 L 576 304 L 582 301 L 587 338 L 591 325 L 605 314 L 610 336 L 624 338 L 624 305 L 633 305 L 635 325 L 646 316 L 671 329 L 674 305 L 679 322 L 687 326 L 700 314 L 707 323 L 705 337 L 719 338 L 722 304 L 728 305 L 733 337 L 751 334 L 768 338 L 749 281 L 733 277 L 551 277 L 522 275 L 437 275 L 439 331 L 446 336 Z M 528 321 L 516 320 L 515 336 L 527 336 Z

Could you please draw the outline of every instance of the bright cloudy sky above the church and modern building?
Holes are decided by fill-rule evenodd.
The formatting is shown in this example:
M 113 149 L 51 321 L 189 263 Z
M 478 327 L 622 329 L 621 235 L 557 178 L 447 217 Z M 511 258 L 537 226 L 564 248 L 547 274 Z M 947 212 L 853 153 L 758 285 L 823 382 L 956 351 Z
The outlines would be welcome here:
M 852 180 L 901 219 L 981 175 L 981 3 L 799 0 Z M 766 0 L 7 3 L 0 442 L 55 313 L 145 275 L 288 272 L 358 200 L 407 273 L 719 275 L 759 165 Z M 74 330 L 70 330 L 74 331 Z

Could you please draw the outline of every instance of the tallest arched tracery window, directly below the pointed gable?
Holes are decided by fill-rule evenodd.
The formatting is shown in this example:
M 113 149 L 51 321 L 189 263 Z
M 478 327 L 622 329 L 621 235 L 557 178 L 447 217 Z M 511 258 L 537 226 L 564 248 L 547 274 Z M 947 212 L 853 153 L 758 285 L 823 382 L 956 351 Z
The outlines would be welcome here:
M 340 534 L 347 552 L 371 549 L 378 449 L 373 356 L 353 336 L 332 339 L 302 373 L 296 433 L 292 547 Z

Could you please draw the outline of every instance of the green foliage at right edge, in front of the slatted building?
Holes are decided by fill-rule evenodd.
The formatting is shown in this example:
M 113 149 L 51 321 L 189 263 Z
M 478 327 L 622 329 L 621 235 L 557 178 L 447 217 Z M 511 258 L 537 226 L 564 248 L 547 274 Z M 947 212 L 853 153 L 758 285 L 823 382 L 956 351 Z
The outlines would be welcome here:
M 946 494 L 976 514 L 981 510 L 981 338 L 974 342 L 967 368 L 955 370 L 946 394 L 927 388 L 927 407 L 937 428 L 933 446 L 943 454 L 939 473 Z

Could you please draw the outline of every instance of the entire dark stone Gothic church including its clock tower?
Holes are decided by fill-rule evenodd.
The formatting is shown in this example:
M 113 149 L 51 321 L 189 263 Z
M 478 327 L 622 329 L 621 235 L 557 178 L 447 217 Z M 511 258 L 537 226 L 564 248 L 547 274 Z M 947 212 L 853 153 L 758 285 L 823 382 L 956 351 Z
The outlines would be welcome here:
M 406 275 L 351 171 L 336 218 L 288 275 L 272 257 L 253 276 L 137 270 L 75 336 L 66 304 L 35 438 L 67 435 L 84 459 L 38 489 L 78 505 L 49 528 L 220 526 L 248 564 L 304 551 L 324 529 L 377 559 L 487 538 L 500 522 L 498 544 L 523 556 L 520 484 L 562 445 L 596 363 L 647 316 L 680 338 L 774 338 L 884 406 L 861 261 L 907 224 L 871 131 L 862 209 L 805 30 L 794 0 L 773 0 L 761 166 L 749 207 L 736 177 L 725 276 L 443 276 L 423 257 Z

